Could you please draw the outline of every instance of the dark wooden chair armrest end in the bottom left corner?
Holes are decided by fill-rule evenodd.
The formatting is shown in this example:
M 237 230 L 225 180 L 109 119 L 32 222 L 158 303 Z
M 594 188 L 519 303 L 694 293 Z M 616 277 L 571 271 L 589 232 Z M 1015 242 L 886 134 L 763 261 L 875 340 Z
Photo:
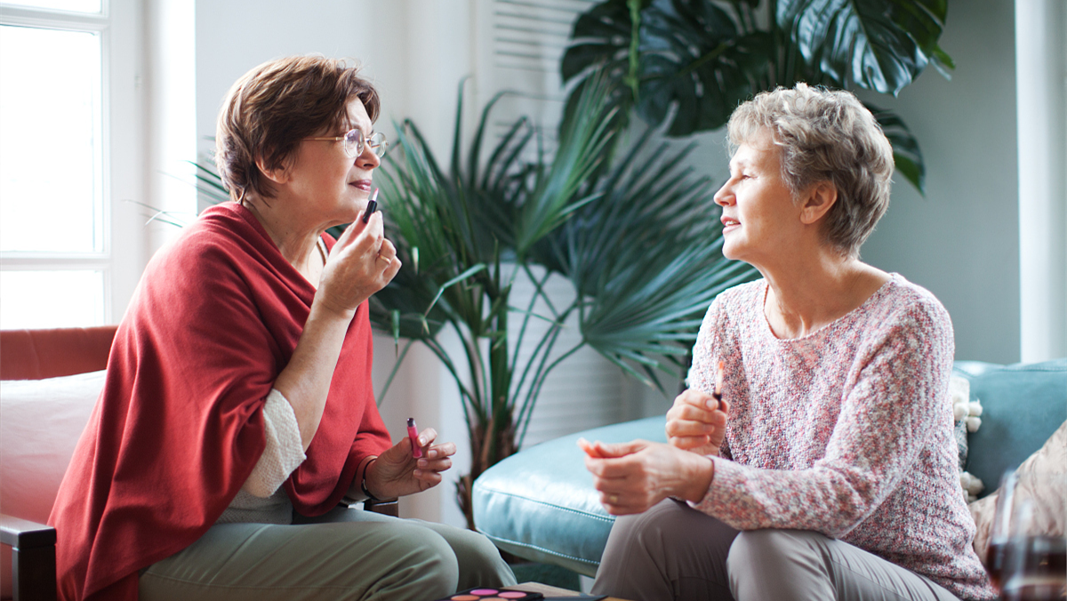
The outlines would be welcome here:
M 15 601 L 55 601 L 55 528 L 0 513 L 0 542 L 12 548 Z

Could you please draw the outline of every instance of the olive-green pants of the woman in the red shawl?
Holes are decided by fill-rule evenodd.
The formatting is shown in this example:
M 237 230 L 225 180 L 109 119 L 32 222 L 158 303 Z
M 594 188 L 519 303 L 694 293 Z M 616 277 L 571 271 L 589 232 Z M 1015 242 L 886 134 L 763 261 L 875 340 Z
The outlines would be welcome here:
M 141 601 L 429 601 L 514 583 L 480 534 L 338 508 L 314 523 L 214 525 L 139 588 Z

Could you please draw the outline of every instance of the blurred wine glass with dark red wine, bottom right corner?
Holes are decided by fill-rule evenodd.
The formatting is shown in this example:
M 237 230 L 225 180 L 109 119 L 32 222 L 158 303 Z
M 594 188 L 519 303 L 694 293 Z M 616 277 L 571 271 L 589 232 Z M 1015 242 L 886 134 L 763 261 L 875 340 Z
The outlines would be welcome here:
M 996 553 L 1001 599 L 1067 599 L 1067 480 L 1063 475 L 1023 472 L 1007 484 L 1012 485 L 1005 500 L 1007 536 L 1001 539 L 1001 552 Z M 990 536 L 990 547 L 992 542 Z M 993 557 L 991 550 L 990 559 Z M 997 569 L 992 560 L 990 568 L 990 573 Z

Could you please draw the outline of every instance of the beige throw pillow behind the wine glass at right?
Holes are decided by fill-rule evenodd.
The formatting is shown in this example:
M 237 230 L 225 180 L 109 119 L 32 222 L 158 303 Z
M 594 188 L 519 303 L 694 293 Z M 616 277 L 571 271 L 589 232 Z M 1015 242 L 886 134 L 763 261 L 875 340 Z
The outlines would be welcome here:
M 1017 485 L 1018 496 L 1031 496 L 1036 503 L 1035 517 L 1042 532 L 1050 535 L 1064 536 L 1067 532 L 1064 524 L 1063 504 L 1067 499 L 1067 422 L 1064 422 L 1045 442 L 1041 448 L 1026 458 L 1019 465 L 1020 475 Z M 1052 488 L 1034 490 L 1033 478 L 1024 475 L 1045 474 L 1052 476 Z M 1038 491 L 1044 492 L 1044 495 Z M 974 551 L 983 562 L 986 560 L 986 549 L 989 545 L 989 529 L 993 522 L 993 511 L 997 508 L 999 492 L 971 503 L 971 517 L 977 531 L 974 534 Z

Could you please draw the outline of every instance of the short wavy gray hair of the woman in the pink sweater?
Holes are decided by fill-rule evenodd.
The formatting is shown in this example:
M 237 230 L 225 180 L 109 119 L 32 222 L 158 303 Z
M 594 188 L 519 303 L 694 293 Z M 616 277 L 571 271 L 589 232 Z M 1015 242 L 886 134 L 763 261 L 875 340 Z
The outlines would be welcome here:
M 761 92 L 727 124 L 730 156 L 769 130 L 782 151 L 782 179 L 796 197 L 816 181 L 830 181 L 838 202 L 827 216 L 827 243 L 847 256 L 889 207 L 893 147 L 874 115 L 850 92 L 797 83 Z

